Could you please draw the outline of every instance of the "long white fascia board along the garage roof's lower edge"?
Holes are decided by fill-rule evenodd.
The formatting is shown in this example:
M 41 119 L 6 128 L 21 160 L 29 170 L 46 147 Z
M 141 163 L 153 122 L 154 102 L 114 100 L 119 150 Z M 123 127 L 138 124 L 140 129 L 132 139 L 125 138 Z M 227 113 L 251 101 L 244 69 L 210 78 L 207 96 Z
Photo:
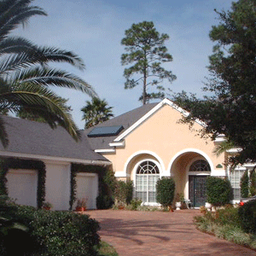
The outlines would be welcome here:
M 80 160 L 80 159 L 58 157 L 58 156 L 23 154 L 23 153 L 14 153 L 14 152 L 6 152 L 6 151 L 0 151 L 0 156 L 15 157 L 15 158 L 18 157 L 18 158 L 44 160 L 44 161 L 61 161 L 63 163 L 77 163 L 77 164 L 97 165 L 97 166 L 112 165 L 112 163 L 104 160 Z

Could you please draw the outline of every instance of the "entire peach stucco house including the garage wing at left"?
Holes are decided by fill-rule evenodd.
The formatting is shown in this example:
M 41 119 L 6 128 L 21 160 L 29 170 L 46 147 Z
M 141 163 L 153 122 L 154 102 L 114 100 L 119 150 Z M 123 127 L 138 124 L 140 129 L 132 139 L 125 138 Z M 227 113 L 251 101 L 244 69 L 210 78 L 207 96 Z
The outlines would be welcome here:
M 183 193 L 194 207 L 206 202 L 207 176 L 229 177 L 234 199 L 239 201 L 241 175 L 252 166 L 240 166 L 230 173 L 225 158 L 232 152 L 218 157 L 213 154 L 224 137 L 219 136 L 214 142 L 202 138 L 198 131 L 204 124 L 198 120 L 189 129 L 189 125 L 180 122 L 186 114 L 168 99 L 146 104 L 83 131 L 80 143 L 73 142 L 62 128 L 52 131 L 46 124 L 9 118 L 9 148 L 0 145 L 0 156 L 44 161 L 46 199 L 53 201 L 58 210 L 68 208 L 73 163 L 110 166 L 118 179 L 133 181 L 134 196 L 146 205 L 157 205 L 155 183 L 160 177 L 173 177 L 176 193 Z M 28 173 L 33 177 L 27 178 Z M 37 175 L 30 170 L 10 172 L 10 194 L 24 201 L 26 186 L 33 183 L 30 189 L 37 189 Z M 90 208 L 96 208 L 97 174 L 84 172 L 77 178 L 79 195 L 89 197 Z M 27 192 L 26 197 L 32 199 L 25 204 L 35 205 L 35 192 Z

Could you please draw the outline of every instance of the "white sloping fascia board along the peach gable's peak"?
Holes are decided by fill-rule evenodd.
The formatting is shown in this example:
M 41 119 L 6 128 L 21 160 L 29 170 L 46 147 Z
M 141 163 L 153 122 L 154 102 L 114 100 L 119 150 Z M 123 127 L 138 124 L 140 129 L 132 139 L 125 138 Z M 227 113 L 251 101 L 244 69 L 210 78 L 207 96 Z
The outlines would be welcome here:
M 154 108 L 152 108 L 148 113 L 143 115 L 141 119 L 138 119 L 136 123 L 131 125 L 129 129 L 127 129 L 125 132 L 123 132 L 119 137 L 115 138 L 114 142 L 119 142 L 120 140 L 124 139 L 131 131 L 137 128 L 137 126 L 141 125 L 146 119 L 148 119 L 152 114 L 154 114 L 156 111 L 158 111 L 160 108 L 162 108 L 164 105 L 169 105 L 170 107 L 176 109 L 178 112 L 182 113 L 184 116 L 188 116 L 189 112 L 185 111 L 183 108 L 178 107 L 175 103 L 168 99 L 164 99 L 159 104 L 157 104 Z M 202 125 L 203 127 L 206 127 L 206 124 L 202 122 L 199 119 L 195 120 L 196 123 L 199 125 Z

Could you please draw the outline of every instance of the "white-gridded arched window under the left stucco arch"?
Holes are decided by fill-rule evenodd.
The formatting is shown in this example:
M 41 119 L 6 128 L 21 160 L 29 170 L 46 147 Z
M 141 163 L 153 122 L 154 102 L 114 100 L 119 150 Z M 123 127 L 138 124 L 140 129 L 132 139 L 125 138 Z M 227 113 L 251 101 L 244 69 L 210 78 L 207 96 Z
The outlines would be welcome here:
M 155 184 L 159 178 L 158 166 L 153 161 L 143 161 L 136 172 L 136 197 L 146 203 L 156 202 Z

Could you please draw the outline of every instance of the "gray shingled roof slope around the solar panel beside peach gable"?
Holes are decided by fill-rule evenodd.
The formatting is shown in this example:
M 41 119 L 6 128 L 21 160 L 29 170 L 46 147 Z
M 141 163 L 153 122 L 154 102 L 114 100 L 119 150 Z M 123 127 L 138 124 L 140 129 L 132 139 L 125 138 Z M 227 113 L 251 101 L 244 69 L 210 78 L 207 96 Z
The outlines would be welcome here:
M 84 130 L 84 133 L 87 135 L 92 129 L 95 127 L 102 126 L 115 126 L 115 125 L 123 125 L 124 130 L 119 133 L 122 134 L 125 130 L 127 130 L 131 125 L 137 122 L 138 119 L 141 119 L 143 115 L 148 113 L 152 108 L 154 108 L 158 103 L 149 103 L 143 105 L 140 108 L 135 108 L 127 113 L 123 113 L 113 119 L 109 119 L 102 124 L 91 127 L 90 129 Z M 118 135 L 118 136 L 119 136 Z M 113 140 L 118 136 L 109 136 L 109 137 L 88 137 L 88 141 L 90 142 L 91 148 L 93 149 L 108 149 L 112 148 L 108 144 L 112 143 Z

